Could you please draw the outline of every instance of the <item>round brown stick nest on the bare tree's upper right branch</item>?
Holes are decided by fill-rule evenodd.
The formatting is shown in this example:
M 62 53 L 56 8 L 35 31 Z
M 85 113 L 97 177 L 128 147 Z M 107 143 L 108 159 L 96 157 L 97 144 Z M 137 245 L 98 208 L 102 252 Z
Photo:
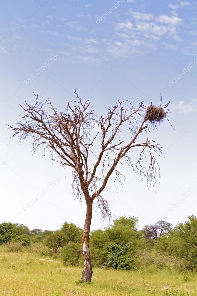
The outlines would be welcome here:
M 162 108 L 161 106 L 156 107 L 154 105 L 149 105 L 149 107 L 146 108 L 146 116 L 145 119 L 149 120 L 152 123 L 156 122 L 162 122 L 162 120 L 166 117 L 167 111 L 165 108 Z

